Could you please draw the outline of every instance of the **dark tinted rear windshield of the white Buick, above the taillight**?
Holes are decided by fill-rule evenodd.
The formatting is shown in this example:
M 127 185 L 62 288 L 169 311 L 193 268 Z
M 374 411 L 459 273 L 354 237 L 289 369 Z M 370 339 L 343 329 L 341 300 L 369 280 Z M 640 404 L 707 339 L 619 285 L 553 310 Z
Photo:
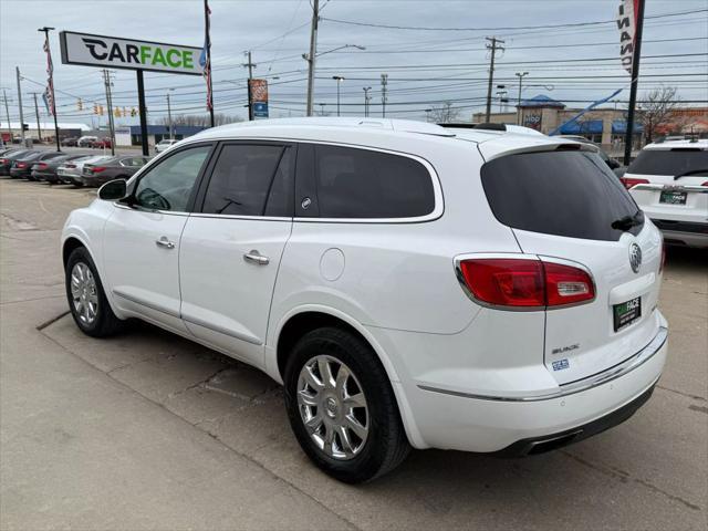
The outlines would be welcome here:
M 622 230 L 613 229 L 613 221 L 638 210 L 620 179 L 590 152 L 509 155 L 485 164 L 481 175 L 492 212 L 514 229 L 616 241 Z M 642 223 L 629 232 L 639 230 Z

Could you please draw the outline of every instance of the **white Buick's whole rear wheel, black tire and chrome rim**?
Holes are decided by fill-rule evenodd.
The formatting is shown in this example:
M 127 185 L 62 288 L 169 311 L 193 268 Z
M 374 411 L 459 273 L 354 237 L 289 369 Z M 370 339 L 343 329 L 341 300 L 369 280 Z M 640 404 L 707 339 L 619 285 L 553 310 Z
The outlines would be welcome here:
M 375 479 L 410 450 L 384 367 L 345 330 L 317 329 L 298 342 L 285 368 L 285 407 L 304 452 L 341 481 Z

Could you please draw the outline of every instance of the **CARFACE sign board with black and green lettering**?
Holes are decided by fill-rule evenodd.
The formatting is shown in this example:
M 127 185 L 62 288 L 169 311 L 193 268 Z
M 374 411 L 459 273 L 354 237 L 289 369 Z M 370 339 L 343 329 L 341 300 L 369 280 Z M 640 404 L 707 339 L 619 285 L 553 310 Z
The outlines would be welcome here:
M 201 75 L 200 48 L 90 33 L 60 33 L 62 63 Z

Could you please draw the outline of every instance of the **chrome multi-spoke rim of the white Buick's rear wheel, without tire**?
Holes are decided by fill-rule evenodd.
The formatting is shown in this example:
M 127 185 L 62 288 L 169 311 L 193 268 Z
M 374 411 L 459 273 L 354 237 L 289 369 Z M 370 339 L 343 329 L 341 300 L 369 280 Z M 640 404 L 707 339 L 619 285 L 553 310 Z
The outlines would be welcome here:
M 364 391 L 348 366 L 320 355 L 302 366 L 298 377 L 300 417 L 314 444 L 334 459 L 352 459 L 368 438 Z

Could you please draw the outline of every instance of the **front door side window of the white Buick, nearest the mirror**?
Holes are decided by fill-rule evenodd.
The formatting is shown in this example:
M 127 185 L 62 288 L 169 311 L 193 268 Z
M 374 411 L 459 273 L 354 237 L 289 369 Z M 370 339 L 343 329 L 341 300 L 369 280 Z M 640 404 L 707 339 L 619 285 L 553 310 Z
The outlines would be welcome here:
M 184 212 L 211 146 L 176 153 L 147 171 L 135 188 L 135 204 L 155 210 Z

